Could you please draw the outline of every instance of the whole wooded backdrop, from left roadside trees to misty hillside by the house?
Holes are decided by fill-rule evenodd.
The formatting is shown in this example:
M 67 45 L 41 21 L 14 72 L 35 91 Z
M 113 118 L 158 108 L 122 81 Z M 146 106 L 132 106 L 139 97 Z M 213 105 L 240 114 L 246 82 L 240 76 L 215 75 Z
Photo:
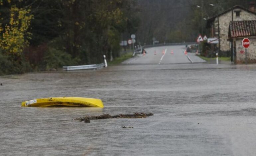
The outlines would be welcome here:
M 103 55 L 116 64 L 129 57 L 115 59 L 131 34 L 136 45 L 191 42 L 209 36 L 202 17 L 233 5 L 248 8 L 242 0 L 0 0 L 0 75 L 97 64 Z

